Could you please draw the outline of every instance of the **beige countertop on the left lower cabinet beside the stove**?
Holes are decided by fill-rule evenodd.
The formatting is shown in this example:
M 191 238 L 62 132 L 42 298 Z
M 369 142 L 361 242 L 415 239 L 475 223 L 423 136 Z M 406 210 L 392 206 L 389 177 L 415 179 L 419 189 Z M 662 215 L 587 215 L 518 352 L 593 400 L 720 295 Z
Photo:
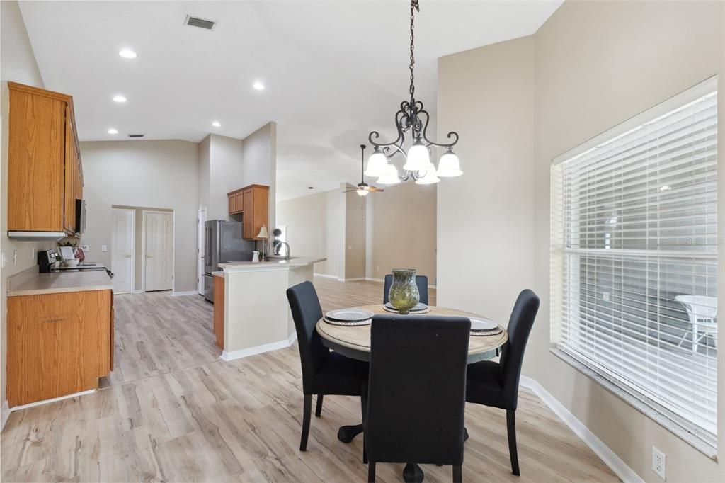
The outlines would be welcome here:
M 37 273 L 37 268 L 33 270 L 34 273 L 26 271 L 9 278 L 8 297 L 113 289 L 111 277 L 105 271 Z

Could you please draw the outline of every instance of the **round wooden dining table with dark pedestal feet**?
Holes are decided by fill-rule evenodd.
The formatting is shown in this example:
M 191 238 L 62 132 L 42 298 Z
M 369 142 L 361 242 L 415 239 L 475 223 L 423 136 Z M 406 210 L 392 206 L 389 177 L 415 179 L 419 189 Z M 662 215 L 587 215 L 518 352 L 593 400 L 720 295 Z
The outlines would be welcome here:
M 353 307 L 355 310 L 369 310 L 375 315 L 398 315 L 385 310 L 384 305 L 365 305 Z M 419 317 L 421 315 L 456 316 L 468 318 L 484 318 L 483 315 L 465 312 L 446 307 L 430 307 L 431 310 L 424 314 L 403 315 L 404 317 Z M 320 318 L 316 329 L 322 339 L 322 343 L 331 350 L 338 352 L 345 357 L 357 360 L 370 360 L 370 323 L 360 326 L 336 325 L 328 323 L 325 318 Z M 468 341 L 468 363 L 476 363 L 481 360 L 488 360 L 499 355 L 501 347 L 508 341 L 508 333 L 502 328 L 499 334 L 495 335 L 473 335 Z M 337 432 L 337 438 L 341 442 L 351 442 L 357 434 L 363 432 L 362 424 L 341 426 Z M 465 433 L 468 439 L 468 432 Z M 407 463 L 403 470 L 403 479 L 406 482 L 423 481 L 423 471 L 415 463 Z

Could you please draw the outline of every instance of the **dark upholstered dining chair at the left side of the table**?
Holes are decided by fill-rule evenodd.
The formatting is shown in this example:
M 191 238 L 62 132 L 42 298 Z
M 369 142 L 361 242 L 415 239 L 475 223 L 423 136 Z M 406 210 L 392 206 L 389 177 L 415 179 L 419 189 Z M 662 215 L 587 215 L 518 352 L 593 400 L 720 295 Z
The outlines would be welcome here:
M 368 363 L 331 352 L 322 344 L 315 325 L 322 318 L 322 307 L 311 282 L 305 281 L 287 289 L 287 300 L 294 318 L 302 362 L 302 439 L 299 450 L 307 450 L 310 434 L 312 395 L 317 395 L 315 416 L 322 413 L 324 395 L 360 396 L 368 384 Z

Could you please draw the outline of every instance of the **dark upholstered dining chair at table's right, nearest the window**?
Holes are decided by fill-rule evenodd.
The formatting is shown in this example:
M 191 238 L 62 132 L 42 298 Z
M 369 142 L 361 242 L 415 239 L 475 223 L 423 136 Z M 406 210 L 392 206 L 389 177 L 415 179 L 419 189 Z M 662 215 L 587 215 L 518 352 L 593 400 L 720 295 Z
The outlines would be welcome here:
M 468 366 L 465 400 L 506 410 L 508 452 L 511 471 L 520 475 L 516 450 L 516 405 L 518 404 L 518 380 L 526 341 L 539 310 L 539 297 L 526 289 L 518 294 L 508 321 L 508 342 L 503 346 L 500 362 L 484 360 Z

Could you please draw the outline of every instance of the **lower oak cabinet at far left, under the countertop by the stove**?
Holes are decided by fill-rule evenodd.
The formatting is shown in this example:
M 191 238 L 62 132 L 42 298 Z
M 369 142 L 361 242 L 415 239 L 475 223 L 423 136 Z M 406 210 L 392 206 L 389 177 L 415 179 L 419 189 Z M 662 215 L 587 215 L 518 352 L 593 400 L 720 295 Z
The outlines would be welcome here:
M 8 297 L 10 407 L 95 389 L 112 367 L 111 290 Z

